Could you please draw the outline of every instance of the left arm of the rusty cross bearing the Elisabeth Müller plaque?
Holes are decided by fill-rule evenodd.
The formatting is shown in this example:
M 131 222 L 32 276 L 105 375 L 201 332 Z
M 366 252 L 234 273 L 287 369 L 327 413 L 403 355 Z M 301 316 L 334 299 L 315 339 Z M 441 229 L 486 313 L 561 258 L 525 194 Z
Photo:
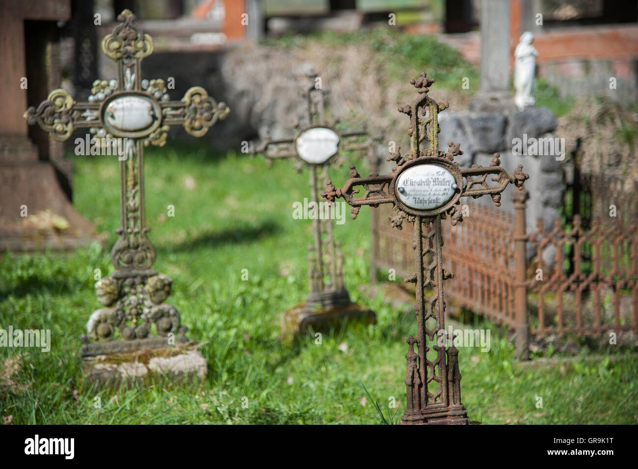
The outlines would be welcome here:
M 359 214 L 359 209 L 363 205 L 378 207 L 380 204 L 394 204 L 396 199 L 390 194 L 390 182 L 392 175 L 371 174 L 361 177 L 355 165 L 350 166 L 350 179 L 346 181 L 343 188 L 336 188 L 332 181 L 327 181 L 326 190 L 321 193 L 323 198 L 334 202 L 336 198 L 343 198 L 352 208 L 351 218 L 354 220 Z M 354 197 L 360 193 L 357 187 L 362 186 L 365 190 L 362 197 Z

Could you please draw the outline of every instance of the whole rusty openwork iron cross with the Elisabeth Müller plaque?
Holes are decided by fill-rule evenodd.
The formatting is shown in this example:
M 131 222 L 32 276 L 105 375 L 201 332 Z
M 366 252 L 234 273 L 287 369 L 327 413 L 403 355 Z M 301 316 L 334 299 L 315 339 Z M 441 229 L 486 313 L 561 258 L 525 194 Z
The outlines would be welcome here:
M 418 96 L 412 104 L 399 108 L 399 112 L 410 117 L 410 153 L 401 156 L 398 147 L 390 153 L 387 160 L 396 162 L 391 175 L 360 177 L 357 168 L 351 166 L 350 179 L 343 188 L 335 188 L 332 181 L 327 181 L 322 197 L 330 202 L 343 197 L 352 205 L 352 218 L 357 218 L 362 205 L 393 204 L 397 214 L 389 218 L 392 226 L 400 230 L 404 220 L 414 224 L 412 246 L 416 272 L 405 281 L 416 283 L 417 338 L 408 338 L 407 409 L 401 421 L 404 424 L 468 424 L 467 411 L 461 403 L 459 351 L 452 338 L 447 350 L 445 341 L 439 345 L 437 340 L 438 332 L 445 331 L 443 280 L 452 277 L 443 269 L 441 219 L 449 215 L 452 225 L 462 221 L 462 212 L 457 210 L 461 197 L 491 195 L 494 204 L 499 206 L 500 194 L 507 184 L 511 182 L 522 189 L 529 176 L 523 173 L 521 165 L 514 174 L 507 174 L 500 167 L 498 153 L 494 154 L 489 167 L 459 168 L 454 161 L 454 156 L 463 153 L 459 144 L 450 142 L 447 153 L 438 150 L 438 113 L 448 105 L 436 103 L 427 94 L 434 80 L 422 72 L 410 83 L 417 89 Z M 496 184 L 488 184 L 488 175 L 493 175 L 491 181 Z M 355 189 L 357 186 L 365 190 L 361 197 L 355 197 L 360 192 Z M 428 296 L 426 289 L 433 294 Z M 428 343 L 436 352 L 434 358 L 427 355 Z

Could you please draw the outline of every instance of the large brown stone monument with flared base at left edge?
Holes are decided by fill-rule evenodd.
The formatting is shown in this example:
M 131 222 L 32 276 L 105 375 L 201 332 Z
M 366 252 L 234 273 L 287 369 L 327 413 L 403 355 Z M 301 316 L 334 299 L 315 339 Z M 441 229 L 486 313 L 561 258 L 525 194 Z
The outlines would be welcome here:
M 68 0 L 0 3 L 0 251 L 73 249 L 98 239 L 71 204 L 72 168 L 62 144 L 29 132 L 22 113 L 59 82 L 58 20 Z M 27 60 L 28 59 L 28 60 Z

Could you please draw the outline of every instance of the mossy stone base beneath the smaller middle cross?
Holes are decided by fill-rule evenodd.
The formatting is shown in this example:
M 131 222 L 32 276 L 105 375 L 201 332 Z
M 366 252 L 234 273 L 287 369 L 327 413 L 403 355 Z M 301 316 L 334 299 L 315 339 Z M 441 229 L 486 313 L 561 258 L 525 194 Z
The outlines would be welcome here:
M 300 303 L 281 316 L 281 332 L 285 338 L 306 334 L 309 328 L 314 332 L 328 332 L 343 325 L 345 320 L 376 324 L 376 314 L 356 303 L 311 312 L 306 311 L 305 303 Z

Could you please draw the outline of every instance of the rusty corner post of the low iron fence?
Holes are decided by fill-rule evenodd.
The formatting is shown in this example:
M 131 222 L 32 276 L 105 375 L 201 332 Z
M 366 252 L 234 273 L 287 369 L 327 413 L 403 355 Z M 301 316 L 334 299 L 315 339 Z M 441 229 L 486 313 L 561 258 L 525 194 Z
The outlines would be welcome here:
M 526 227 L 525 202 L 528 191 L 513 191 L 514 202 L 514 329 L 516 331 L 516 356 L 530 359 L 530 330 L 527 309 L 527 256 L 525 253 Z

